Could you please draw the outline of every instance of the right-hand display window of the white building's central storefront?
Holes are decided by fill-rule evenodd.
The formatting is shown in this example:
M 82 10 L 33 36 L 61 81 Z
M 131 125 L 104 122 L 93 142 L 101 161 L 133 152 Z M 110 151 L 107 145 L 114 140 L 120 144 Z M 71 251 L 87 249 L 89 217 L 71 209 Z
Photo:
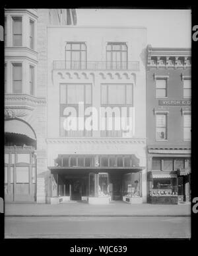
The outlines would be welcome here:
M 127 197 L 141 196 L 140 173 L 127 173 L 123 178 L 123 195 Z

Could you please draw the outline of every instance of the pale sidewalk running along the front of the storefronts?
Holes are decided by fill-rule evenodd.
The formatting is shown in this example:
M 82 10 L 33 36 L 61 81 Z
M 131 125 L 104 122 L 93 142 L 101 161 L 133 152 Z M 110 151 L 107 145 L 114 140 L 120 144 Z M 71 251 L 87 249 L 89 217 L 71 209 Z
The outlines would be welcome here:
M 5 204 L 5 216 L 190 216 L 191 204 Z

